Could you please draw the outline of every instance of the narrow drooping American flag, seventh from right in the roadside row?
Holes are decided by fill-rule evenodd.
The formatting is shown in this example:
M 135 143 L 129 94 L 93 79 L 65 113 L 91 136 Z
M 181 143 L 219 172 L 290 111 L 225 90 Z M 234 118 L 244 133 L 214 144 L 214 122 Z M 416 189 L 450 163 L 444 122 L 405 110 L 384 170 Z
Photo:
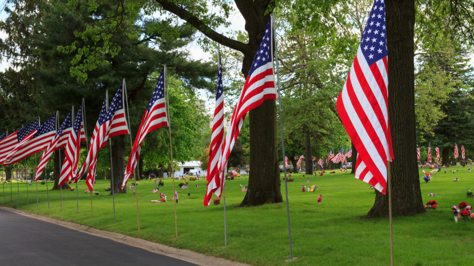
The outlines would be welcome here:
M 62 186 L 67 181 L 74 178 L 74 174 L 78 170 L 79 164 L 79 144 L 80 144 L 80 128 L 82 125 L 82 103 L 79 106 L 78 114 L 74 119 L 73 130 L 69 133 L 68 144 L 64 152 L 64 162 L 61 167 L 61 175 L 59 176 L 59 185 Z M 90 189 L 92 191 L 92 189 Z

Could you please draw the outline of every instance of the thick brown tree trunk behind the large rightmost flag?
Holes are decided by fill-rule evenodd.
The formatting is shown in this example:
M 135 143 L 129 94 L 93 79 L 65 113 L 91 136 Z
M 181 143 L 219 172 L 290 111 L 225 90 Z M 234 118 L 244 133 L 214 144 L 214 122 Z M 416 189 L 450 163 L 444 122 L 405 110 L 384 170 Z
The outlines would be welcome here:
M 426 212 L 416 160 L 413 37 L 414 0 L 387 0 L 389 121 L 395 160 L 391 163 L 394 216 Z M 387 190 L 388 191 L 388 190 Z M 388 217 L 389 198 L 376 191 L 366 217 Z

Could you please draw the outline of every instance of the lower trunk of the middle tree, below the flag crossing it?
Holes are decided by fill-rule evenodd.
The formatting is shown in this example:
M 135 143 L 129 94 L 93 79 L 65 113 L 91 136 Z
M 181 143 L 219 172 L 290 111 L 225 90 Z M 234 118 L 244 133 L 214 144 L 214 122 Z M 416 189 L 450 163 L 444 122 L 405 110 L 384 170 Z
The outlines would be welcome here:
M 240 206 L 283 202 L 276 146 L 276 104 L 265 100 L 250 111 L 250 167 L 248 190 Z

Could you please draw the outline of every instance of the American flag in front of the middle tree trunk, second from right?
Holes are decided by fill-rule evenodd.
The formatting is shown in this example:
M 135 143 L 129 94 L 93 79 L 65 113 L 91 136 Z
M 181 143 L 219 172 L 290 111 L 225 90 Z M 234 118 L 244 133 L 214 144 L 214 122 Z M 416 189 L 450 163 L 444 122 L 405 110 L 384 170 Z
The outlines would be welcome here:
M 242 92 L 237 100 L 236 108 L 232 115 L 227 135 L 222 145 L 219 157 L 219 187 L 216 194 L 220 197 L 224 184 L 227 161 L 234 147 L 238 133 L 243 125 L 243 120 L 248 111 L 260 106 L 264 100 L 276 99 L 275 75 L 273 72 L 273 27 L 269 18 L 267 27 L 262 37 L 262 42 L 255 54 Z M 217 182 L 216 182 L 217 183 Z

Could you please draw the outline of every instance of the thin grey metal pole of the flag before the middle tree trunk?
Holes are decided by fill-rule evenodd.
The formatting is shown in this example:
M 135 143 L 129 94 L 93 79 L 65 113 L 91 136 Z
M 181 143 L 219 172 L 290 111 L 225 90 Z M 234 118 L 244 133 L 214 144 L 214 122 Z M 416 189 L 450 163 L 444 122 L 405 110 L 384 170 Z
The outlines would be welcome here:
M 280 133 L 281 133 L 281 151 L 283 154 L 283 160 L 285 158 L 285 143 L 283 141 L 283 115 L 281 114 L 281 95 L 280 95 L 280 78 L 278 73 L 278 54 L 276 53 L 276 30 L 275 30 L 275 15 L 272 13 L 272 33 L 273 39 L 272 46 L 275 45 L 275 63 L 276 63 L 276 84 L 277 84 L 277 91 L 278 91 L 278 106 L 279 106 L 279 115 L 280 115 Z M 273 56 L 273 53 L 272 53 Z M 290 258 L 288 260 L 293 260 L 293 249 L 291 245 L 291 227 L 290 227 L 290 208 L 288 205 L 288 179 L 286 178 L 286 167 L 283 167 L 283 175 L 285 177 L 285 193 L 286 193 L 286 217 L 288 218 L 288 238 L 290 240 Z M 287 260 L 287 261 L 288 261 Z

